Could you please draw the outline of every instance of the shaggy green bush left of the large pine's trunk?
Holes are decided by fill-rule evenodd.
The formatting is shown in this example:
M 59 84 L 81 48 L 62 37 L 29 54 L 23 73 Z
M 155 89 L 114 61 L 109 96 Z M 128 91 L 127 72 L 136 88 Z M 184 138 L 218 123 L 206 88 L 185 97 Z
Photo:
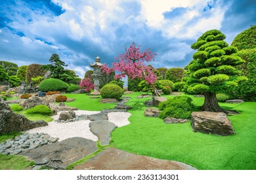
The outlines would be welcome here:
M 162 119 L 167 116 L 189 119 L 191 112 L 195 110 L 195 107 L 190 97 L 177 96 L 160 103 L 159 109 L 163 110 L 159 114 L 159 117 Z

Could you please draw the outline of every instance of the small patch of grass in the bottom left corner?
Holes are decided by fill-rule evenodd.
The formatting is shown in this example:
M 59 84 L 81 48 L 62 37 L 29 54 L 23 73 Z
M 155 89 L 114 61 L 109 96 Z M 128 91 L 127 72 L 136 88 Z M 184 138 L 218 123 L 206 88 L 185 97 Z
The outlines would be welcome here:
M 35 165 L 23 156 L 0 154 L 0 170 L 24 170 Z

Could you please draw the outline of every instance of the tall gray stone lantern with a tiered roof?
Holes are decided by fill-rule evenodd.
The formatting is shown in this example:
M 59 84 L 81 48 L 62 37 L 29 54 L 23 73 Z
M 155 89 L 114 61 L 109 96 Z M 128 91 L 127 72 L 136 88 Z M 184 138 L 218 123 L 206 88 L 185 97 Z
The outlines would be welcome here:
M 93 81 L 95 84 L 95 90 L 91 93 L 91 95 L 100 95 L 100 78 L 101 78 L 101 71 L 100 67 L 102 63 L 100 63 L 100 58 L 97 56 L 95 58 L 95 63 L 91 64 L 90 66 L 93 67 Z

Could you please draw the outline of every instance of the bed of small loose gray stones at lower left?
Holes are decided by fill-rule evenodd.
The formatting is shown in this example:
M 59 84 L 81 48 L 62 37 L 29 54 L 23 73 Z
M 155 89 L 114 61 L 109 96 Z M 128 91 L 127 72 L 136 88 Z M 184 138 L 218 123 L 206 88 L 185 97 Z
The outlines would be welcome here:
M 9 139 L 0 144 L 0 153 L 1 154 L 19 154 L 26 150 L 32 150 L 34 148 L 52 144 L 58 141 L 58 138 L 50 137 L 45 133 L 25 133 L 15 137 L 14 139 Z

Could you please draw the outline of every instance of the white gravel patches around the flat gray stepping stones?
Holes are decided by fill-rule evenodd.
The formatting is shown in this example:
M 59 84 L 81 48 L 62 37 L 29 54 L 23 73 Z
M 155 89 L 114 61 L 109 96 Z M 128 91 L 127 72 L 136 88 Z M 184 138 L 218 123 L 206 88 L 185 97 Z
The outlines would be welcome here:
M 61 111 L 62 112 L 62 111 Z M 74 110 L 75 115 L 91 115 L 97 114 L 98 111 L 88 111 L 88 110 Z M 57 115 L 52 116 L 54 120 L 58 119 Z M 129 112 L 110 112 L 108 113 L 108 120 L 117 125 L 117 127 L 121 127 L 123 125 L 128 125 L 130 122 L 128 121 L 129 116 L 131 114 Z M 91 139 L 92 141 L 98 141 L 98 137 L 91 133 L 89 128 L 90 120 L 81 120 L 78 122 L 68 122 L 68 123 L 58 123 L 58 122 L 49 122 L 47 126 L 37 127 L 26 131 L 27 133 L 47 133 L 51 137 L 58 137 L 58 141 L 63 141 L 72 137 L 82 137 L 85 139 Z

